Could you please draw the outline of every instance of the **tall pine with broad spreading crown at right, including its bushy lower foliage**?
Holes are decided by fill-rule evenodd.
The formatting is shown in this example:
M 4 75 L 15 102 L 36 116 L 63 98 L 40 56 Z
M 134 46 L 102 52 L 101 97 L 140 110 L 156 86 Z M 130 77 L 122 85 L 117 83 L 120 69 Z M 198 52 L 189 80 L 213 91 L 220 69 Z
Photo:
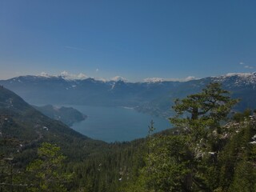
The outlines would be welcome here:
M 237 102 L 215 82 L 201 93 L 177 99 L 173 106 L 176 115 L 170 122 L 180 134 L 150 138 L 150 152 L 142 170 L 146 190 L 212 191 L 208 178 L 214 175 L 214 165 L 206 155 L 211 148 L 207 143 L 209 133 L 220 130 L 221 121 L 226 120 Z

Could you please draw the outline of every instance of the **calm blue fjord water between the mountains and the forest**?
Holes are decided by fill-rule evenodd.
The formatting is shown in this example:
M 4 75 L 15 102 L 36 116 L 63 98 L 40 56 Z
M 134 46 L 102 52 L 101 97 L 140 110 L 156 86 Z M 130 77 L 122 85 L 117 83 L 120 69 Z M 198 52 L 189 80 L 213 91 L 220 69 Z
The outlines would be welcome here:
M 165 118 L 138 113 L 127 107 L 72 107 L 88 116 L 85 121 L 74 123 L 72 128 L 90 138 L 105 142 L 123 142 L 146 137 L 151 120 L 154 121 L 156 131 L 170 128 L 170 122 Z

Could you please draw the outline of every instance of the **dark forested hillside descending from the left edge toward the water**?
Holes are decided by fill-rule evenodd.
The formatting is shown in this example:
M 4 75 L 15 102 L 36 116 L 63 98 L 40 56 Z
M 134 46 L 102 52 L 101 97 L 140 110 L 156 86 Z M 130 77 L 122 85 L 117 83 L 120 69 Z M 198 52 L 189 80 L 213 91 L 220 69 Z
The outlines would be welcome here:
M 105 142 L 90 139 L 46 117 L 3 87 L 0 88 L 0 132 L 0 154 L 21 156 L 22 161 L 29 161 L 41 142 L 56 143 L 68 158 L 77 161 L 106 146 Z

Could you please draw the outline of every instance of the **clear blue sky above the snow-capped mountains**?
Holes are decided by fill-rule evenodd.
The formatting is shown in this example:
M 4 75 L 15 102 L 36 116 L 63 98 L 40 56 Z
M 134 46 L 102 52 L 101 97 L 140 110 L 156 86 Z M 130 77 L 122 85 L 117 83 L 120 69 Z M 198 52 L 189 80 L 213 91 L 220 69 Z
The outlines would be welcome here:
M 1 0 L 0 79 L 254 72 L 255 7 L 254 0 Z

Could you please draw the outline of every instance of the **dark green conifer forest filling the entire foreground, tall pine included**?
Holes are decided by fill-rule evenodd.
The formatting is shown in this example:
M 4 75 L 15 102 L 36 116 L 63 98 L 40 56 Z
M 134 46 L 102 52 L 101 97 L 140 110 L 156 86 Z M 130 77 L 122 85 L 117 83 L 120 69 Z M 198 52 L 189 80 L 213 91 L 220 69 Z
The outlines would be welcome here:
M 12 111 L 6 120 L 2 106 L 0 191 L 254 192 L 256 116 L 234 112 L 238 102 L 210 83 L 174 102 L 174 129 L 154 134 L 151 122 L 146 138 L 110 144 L 61 128 L 30 134 L 30 119 Z

